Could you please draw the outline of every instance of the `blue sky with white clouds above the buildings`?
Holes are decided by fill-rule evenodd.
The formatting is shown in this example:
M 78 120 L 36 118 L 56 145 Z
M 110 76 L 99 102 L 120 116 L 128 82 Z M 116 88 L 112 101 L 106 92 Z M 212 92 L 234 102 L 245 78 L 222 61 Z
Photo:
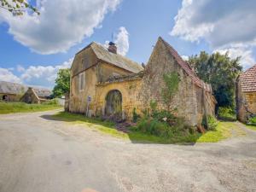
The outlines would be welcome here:
M 60 68 L 90 42 L 147 63 L 158 37 L 183 59 L 229 51 L 256 64 L 255 0 L 37 0 L 40 15 L 0 8 L 0 80 L 52 88 Z

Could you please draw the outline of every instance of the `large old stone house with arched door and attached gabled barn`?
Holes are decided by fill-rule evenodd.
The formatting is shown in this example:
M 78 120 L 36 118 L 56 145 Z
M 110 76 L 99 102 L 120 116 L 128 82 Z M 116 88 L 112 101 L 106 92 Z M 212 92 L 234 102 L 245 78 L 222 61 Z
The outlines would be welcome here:
M 131 119 L 149 108 L 150 101 L 168 109 L 161 96 L 163 75 L 176 72 L 180 82 L 171 107 L 189 125 L 201 124 L 204 114 L 214 115 L 216 101 L 209 84 L 199 79 L 177 51 L 159 38 L 144 67 L 108 49 L 91 43 L 75 55 L 71 67 L 69 111 L 95 116 L 118 115 Z

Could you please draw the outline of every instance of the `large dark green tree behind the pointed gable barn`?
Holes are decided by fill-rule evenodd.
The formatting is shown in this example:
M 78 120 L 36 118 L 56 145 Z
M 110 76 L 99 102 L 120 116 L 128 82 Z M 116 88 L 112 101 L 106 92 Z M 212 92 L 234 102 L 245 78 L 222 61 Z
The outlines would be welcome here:
M 235 108 L 236 78 L 242 69 L 239 61 L 240 57 L 230 59 L 229 52 L 208 55 L 201 51 L 200 55 L 189 57 L 189 64 L 195 68 L 195 73 L 212 85 L 213 95 L 218 102 L 216 112 L 218 107 Z

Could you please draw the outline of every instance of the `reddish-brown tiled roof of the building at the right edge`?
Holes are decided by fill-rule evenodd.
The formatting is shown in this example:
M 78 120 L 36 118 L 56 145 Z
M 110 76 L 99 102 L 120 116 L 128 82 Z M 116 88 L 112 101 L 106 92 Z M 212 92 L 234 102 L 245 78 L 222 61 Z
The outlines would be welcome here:
M 256 92 L 256 65 L 241 73 L 241 90 L 243 92 Z

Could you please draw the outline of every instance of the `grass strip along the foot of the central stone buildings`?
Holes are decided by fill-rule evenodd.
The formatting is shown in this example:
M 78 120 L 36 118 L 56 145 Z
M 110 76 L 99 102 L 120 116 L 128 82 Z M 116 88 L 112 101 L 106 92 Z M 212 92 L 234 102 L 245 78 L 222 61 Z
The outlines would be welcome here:
M 52 116 L 53 119 L 67 121 L 72 124 L 86 125 L 92 129 L 96 129 L 103 133 L 112 135 L 113 137 L 121 137 L 130 139 L 135 143 L 216 143 L 229 137 L 237 137 L 245 135 L 245 131 L 241 129 L 236 122 L 219 122 L 216 131 L 207 131 L 205 134 L 195 133 L 187 137 L 155 137 L 145 133 L 130 129 L 129 133 L 124 133 L 115 129 L 115 124 L 101 119 L 90 119 L 82 114 L 60 112 Z

